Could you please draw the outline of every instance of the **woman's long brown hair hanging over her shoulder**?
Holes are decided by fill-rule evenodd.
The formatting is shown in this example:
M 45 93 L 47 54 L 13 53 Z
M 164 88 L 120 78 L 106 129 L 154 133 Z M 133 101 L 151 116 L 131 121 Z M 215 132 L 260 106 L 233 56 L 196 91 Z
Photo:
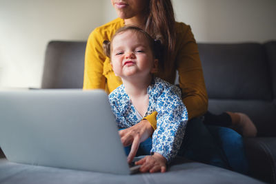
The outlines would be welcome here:
M 161 41 L 166 52 L 164 52 L 163 59 L 159 61 L 159 69 L 165 74 L 170 74 L 176 42 L 175 14 L 172 3 L 170 0 L 150 0 L 148 12 L 145 30 L 151 37 Z

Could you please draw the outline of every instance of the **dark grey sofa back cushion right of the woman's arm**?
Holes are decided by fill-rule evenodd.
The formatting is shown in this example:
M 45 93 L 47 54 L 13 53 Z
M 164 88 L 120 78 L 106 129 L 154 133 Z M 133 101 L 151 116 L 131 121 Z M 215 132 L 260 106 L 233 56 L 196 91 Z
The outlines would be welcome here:
M 258 43 L 199 43 L 210 99 L 272 99 L 268 63 Z

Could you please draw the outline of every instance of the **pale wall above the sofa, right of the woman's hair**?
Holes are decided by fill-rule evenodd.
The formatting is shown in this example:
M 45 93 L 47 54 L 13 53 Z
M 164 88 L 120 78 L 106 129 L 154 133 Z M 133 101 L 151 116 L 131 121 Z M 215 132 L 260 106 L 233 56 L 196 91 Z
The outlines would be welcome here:
M 200 42 L 276 39 L 275 0 L 173 0 L 178 21 Z

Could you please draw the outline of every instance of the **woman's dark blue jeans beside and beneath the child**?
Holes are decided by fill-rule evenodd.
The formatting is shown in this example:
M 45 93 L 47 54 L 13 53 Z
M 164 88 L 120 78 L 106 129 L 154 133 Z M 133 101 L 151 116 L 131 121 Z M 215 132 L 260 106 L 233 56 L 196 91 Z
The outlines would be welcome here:
M 151 138 L 141 143 L 137 156 L 150 154 L 151 145 Z M 125 147 L 127 155 L 130 147 Z M 200 119 L 188 122 L 178 155 L 243 174 L 248 172 L 242 136 L 227 127 L 204 125 Z

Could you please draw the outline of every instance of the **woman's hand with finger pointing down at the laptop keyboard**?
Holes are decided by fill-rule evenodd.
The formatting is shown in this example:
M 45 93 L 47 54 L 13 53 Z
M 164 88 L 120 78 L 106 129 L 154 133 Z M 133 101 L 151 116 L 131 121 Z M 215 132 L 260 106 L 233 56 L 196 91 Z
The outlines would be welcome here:
M 152 133 L 154 132 L 150 122 L 144 119 L 133 125 L 132 127 L 128 127 L 124 130 L 119 131 L 119 135 L 121 136 L 121 143 L 123 143 L 124 147 L 131 145 L 130 153 L 128 154 L 128 163 L 132 162 L 135 157 L 137 150 L 139 148 L 139 144 L 143 141 L 146 141 Z

